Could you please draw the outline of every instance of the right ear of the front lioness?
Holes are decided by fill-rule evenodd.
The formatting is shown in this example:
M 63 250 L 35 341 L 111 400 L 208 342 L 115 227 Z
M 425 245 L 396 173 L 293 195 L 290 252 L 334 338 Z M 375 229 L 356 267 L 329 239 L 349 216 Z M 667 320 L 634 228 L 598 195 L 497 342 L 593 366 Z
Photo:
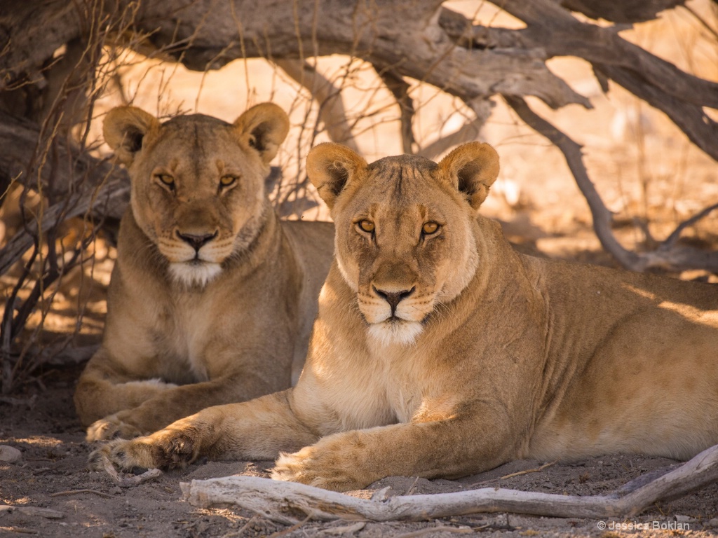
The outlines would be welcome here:
M 439 173 L 479 209 L 498 176 L 498 154 L 487 143 L 466 143 L 439 162 Z

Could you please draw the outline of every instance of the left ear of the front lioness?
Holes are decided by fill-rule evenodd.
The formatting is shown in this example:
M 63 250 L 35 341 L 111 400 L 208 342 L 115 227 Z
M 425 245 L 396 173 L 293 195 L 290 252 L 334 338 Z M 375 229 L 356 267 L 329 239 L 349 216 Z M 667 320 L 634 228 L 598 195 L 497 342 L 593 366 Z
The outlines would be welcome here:
M 347 182 L 365 169 L 366 161 L 341 144 L 325 142 L 314 146 L 307 155 L 307 175 L 320 197 L 332 209 Z

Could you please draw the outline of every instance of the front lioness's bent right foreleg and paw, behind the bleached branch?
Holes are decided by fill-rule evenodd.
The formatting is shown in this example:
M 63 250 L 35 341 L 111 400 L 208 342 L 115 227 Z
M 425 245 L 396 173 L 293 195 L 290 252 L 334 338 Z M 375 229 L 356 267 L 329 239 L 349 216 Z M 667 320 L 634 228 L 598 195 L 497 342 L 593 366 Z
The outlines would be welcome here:
M 466 476 L 510 459 L 501 439 L 497 430 L 455 418 L 353 430 L 282 454 L 272 478 L 352 491 L 386 476 Z

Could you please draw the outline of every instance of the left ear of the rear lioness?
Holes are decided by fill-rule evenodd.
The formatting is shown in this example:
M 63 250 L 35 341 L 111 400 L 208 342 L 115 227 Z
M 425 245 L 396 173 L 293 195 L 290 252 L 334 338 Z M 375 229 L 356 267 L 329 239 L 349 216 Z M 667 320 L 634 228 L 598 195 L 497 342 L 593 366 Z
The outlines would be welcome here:
M 144 136 L 159 128 L 159 120 L 135 106 L 118 106 L 110 110 L 102 125 L 103 135 L 118 161 L 129 166 L 142 148 Z

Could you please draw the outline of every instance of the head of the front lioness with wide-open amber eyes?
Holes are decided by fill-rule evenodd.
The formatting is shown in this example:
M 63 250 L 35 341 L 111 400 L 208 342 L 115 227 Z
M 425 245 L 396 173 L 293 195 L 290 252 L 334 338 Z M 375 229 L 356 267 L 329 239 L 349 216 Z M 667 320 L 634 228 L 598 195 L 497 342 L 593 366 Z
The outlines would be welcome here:
M 324 143 L 309 152 L 307 173 L 332 211 L 337 265 L 370 335 L 411 344 L 475 275 L 475 216 L 498 176 L 498 154 L 474 142 L 439 164 L 408 155 L 367 164 Z

